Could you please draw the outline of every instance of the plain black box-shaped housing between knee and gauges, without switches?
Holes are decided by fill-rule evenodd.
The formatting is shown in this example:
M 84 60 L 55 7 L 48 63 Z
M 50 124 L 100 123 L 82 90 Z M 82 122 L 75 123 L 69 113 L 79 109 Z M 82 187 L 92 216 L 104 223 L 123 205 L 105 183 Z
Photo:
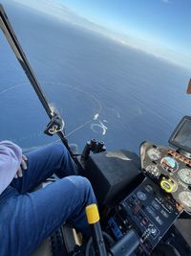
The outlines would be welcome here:
M 84 175 L 91 181 L 99 205 L 116 205 L 143 179 L 138 154 L 132 151 L 95 153 L 84 165 Z

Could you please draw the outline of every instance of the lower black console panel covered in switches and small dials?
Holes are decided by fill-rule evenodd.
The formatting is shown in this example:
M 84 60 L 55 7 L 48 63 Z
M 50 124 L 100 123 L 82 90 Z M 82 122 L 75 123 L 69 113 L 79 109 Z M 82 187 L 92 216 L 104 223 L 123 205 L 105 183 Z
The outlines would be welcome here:
M 179 215 L 175 199 L 163 193 L 150 178 L 145 178 L 111 213 L 107 231 L 119 240 L 133 228 L 140 239 L 138 255 L 149 255 Z

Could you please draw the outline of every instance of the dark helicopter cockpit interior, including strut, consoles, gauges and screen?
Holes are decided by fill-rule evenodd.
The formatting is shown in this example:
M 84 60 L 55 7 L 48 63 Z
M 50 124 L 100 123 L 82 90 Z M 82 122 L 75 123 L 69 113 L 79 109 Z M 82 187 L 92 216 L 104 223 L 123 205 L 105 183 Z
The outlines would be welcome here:
M 179 220 L 188 221 L 183 232 L 189 237 L 191 117 L 182 118 L 169 139 L 170 147 L 144 141 L 138 156 L 128 150 L 107 151 L 102 141 L 92 139 L 81 154 L 75 154 L 66 139 L 64 121 L 48 104 L 2 6 L 0 28 L 50 118 L 45 133 L 59 136 L 91 181 L 98 201 L 101 228 L 93 227 L 95 236 L 68 249 L 66 240 L 76 241 L 76 237 L 71 229 L 64 233 L 61 228 L 49 240 L 51 255 L 191 255 L 191 241 L 181 233 L 182 222 L 177 225 Z

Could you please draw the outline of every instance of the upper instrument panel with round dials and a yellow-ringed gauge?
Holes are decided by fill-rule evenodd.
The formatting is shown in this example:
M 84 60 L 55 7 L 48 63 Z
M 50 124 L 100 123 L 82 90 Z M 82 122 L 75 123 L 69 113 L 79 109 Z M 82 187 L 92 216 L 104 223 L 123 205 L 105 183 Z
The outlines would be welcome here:
M 158 182 L 178 208 L 191 213 L 191 159 L 146 141 L 140 146 L 140 160 L 144 174 Z

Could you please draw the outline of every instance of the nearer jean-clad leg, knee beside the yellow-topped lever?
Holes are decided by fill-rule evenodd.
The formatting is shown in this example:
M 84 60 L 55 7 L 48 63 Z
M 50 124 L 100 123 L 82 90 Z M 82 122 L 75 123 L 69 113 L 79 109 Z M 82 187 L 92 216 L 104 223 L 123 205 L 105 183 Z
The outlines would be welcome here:
M 24 195 L 16 190 L 8 197 L 5 194 L 0 196 L 1 256 L 31 255 L 65 221 L 73 222 L 85 234 L 90 232 L 84 210 L 96 198 L 84 177 L 64 177 Z

